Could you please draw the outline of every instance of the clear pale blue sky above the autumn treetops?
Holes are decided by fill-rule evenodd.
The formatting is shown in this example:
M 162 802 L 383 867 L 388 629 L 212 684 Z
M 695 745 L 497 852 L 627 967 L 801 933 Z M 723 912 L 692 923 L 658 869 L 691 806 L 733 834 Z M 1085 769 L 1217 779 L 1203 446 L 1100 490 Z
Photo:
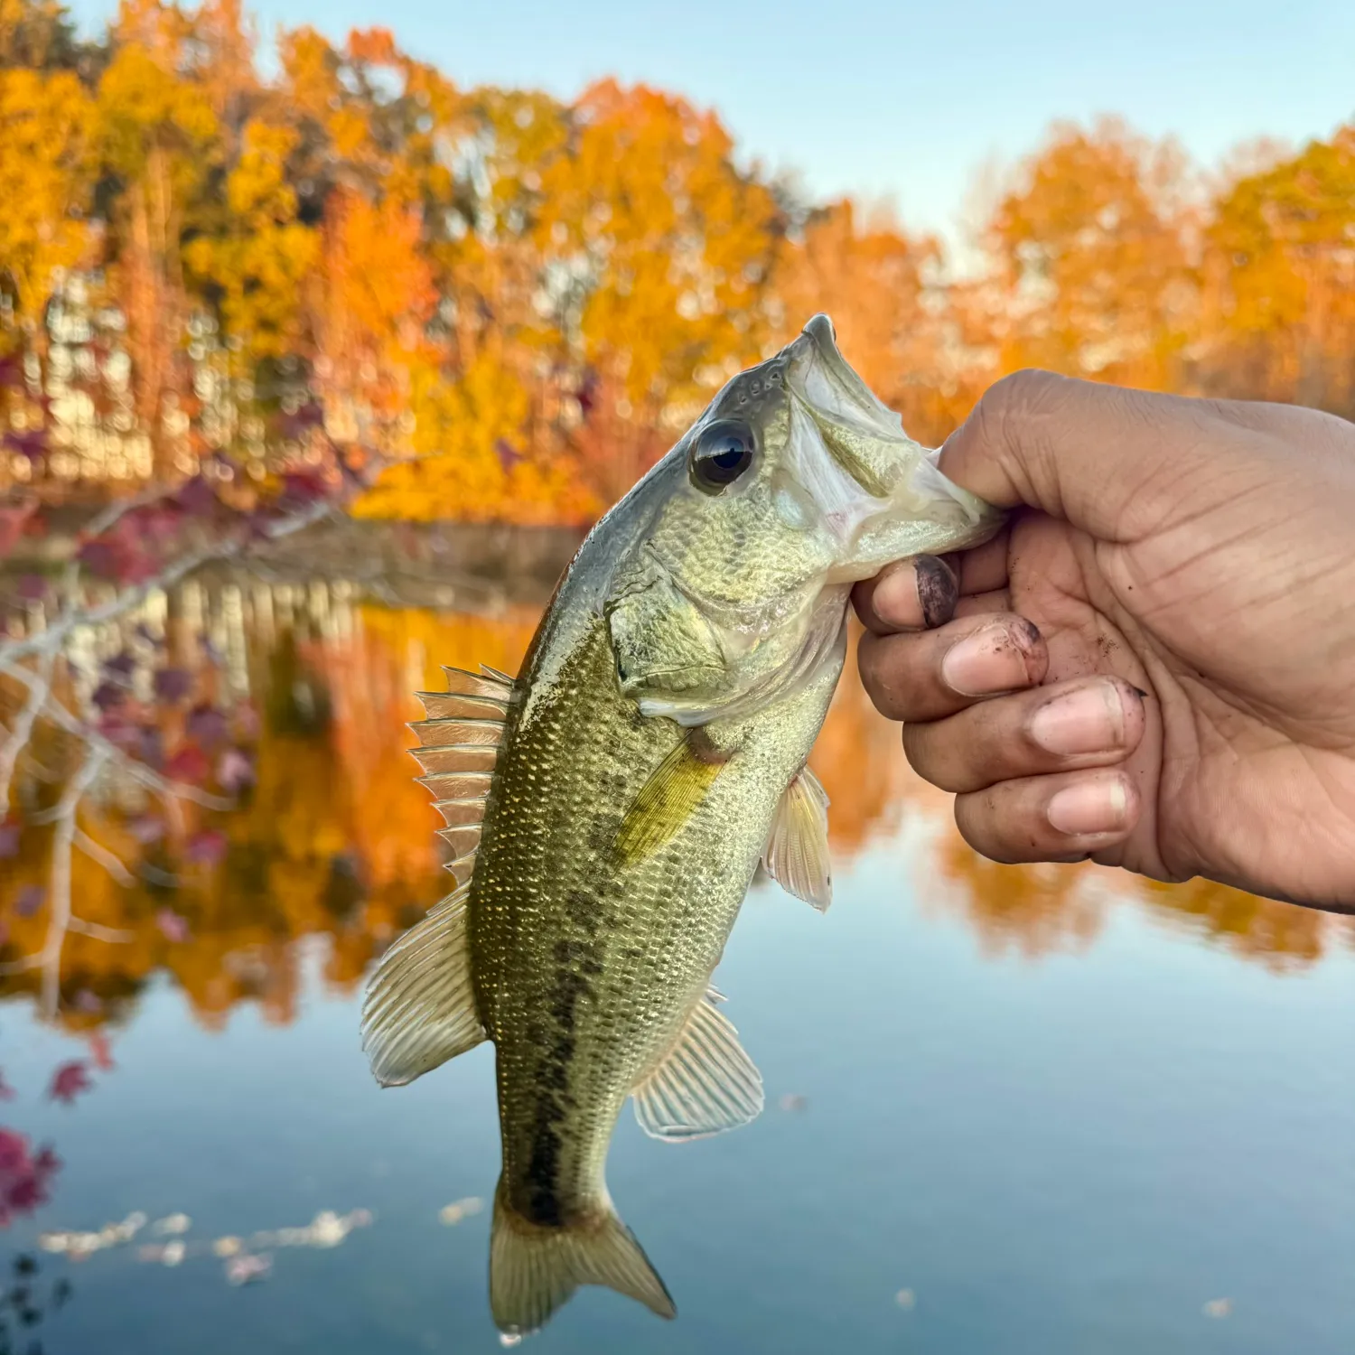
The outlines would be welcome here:
M 248 0 L 247 0 L 248 3 Z M 87 28 L 108 0 L 72 0 Z M 379 24 L 461 85 L 549 89 L 599 76 L 714 107 L 741 153 L 814 196 L 888 201 L 962 245 L 976 183 L 1054 119 L 1119 114 L 1217 164 L 1355 121 L 1351 0 L 253 0 L 267 37 Z M 980 190 L 981 191 L 981 190 Z

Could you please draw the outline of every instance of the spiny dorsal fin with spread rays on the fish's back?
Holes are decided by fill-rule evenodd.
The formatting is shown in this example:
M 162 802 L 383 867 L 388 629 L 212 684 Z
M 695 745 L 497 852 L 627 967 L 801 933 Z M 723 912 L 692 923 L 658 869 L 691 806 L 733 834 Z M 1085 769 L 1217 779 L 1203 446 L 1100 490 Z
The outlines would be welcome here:
M 458 885 L 465 885 L 474 870 L 485 798 L 515 688 L 512 678 L 497 668 L 481 665 L 478 673 L 443 668 L 443 672 L 446 691 L 417 692 L 428 718 L 409 726 L 419 736 L 419 747 L 411 752 L 424 772 L 416 780 L 428 787 L 447 824 L 439 831 L 451 844 L 454 859 L 447 870 Z

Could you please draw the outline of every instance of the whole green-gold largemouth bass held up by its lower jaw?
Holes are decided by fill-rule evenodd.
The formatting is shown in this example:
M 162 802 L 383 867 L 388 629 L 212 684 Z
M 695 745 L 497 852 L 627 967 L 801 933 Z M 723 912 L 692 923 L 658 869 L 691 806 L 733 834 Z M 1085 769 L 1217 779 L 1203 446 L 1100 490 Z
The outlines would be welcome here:
M 386 1087 L 493 1042 L 500 1332 L 539 1329 L 584 1285 L 675 1316 L 607 1190 L 618 1117 L 630 1099 L 676 1144 L 762 1111 L 713 974 L 759 869 L 831 901 L 808 757 L 851 587 L 1000 522 L 814 316 L 598 522 L 516 678 L 449 668 L 419 694 L 457 888 L 379 959 L 362 1038 Z

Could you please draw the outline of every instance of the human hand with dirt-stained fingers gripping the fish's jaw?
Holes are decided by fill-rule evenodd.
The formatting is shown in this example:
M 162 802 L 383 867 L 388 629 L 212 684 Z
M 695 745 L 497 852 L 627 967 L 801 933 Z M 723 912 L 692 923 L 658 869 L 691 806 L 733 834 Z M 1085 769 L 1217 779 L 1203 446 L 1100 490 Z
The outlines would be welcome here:
M 1355 912 L 1355 424 L 1027 371 L 940 465 L 1008 526 L 854 602 L 970 846 Z

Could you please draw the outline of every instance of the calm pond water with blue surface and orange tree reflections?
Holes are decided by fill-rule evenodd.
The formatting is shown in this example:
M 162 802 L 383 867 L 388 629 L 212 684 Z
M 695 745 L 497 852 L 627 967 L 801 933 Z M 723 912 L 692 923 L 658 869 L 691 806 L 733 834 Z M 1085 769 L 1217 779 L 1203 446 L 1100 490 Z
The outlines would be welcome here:
M 440 663 L 512 671 L 534 614 L 228 581 L 149 619 L 249 713 L 252 783 L 131 886 L 76 858 L 77 911 L 121 939 L 68 938 L 56 996 L 3 981 L 0 1135 L 60 1167 L 0 1233 L 39 1267 L 0 1351 L 497 1350 L 492 1050 L 379 1091 L 356 1008 L 440 889 L 409 692 Z M 77 676 L 123 641 L 91 637 Z M 1355 1348 L 1355 931 L 976 859 L 850 678 L 814 762 L 833 906 L 756 885 L 717 976 L 767 1111 L 679 1146 L 627 1111 L 612 1146 L 678 1321 L 583 1290 L 530 1346 Z M 83 822 L 121 850 L 137 814 L 110 785 Z M 43 936 L 26 843 L 0 867 L 11 961 Z M 92 1085 L 46 1095 L 75 1061 Z

